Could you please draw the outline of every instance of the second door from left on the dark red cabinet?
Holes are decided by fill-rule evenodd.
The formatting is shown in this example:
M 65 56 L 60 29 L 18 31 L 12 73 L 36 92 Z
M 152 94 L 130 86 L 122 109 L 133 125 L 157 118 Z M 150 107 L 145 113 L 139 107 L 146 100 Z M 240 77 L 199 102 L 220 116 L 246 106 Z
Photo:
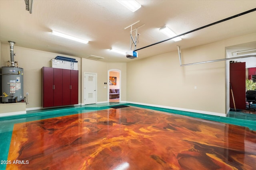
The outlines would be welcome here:
M 62 69 L 54 68 L 54 106 L 62 106 Z

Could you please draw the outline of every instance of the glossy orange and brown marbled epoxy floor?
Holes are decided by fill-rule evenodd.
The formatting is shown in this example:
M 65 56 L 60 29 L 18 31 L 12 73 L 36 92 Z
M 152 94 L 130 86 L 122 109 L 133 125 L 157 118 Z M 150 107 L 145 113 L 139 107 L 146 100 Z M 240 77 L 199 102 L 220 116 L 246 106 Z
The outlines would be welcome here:
M 256 131 L 140 107 L 14 124 L 8 170 L 255 170 Z

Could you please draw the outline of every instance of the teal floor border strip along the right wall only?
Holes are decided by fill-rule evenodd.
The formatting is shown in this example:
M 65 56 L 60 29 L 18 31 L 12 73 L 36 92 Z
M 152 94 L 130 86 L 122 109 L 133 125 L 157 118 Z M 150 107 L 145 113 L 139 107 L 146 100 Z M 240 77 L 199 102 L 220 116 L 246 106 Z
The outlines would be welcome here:
M 162 108 L 162 107 L 146 106 L 146 105 L 139 105 L 139 104 L 128 104 L 128 106 L 142 107 L 142 108 L 145 108 L 145 109 L 164 111 L 164 112 L 167 112 L 167 113 L 174 113 L 174 114 L 178 114 L 178 115 L 196 117 L 196 118 L 206 119 L 206 120 L 210 120 L 210 121 L 228 123 L 228 124 L 232 124 L 232 125 L 248 127 L 250 130 L 256 131 L 256 121 L 237 119 L 237 118 L 233 118 L 233 117 L 222 117 L 222 116 L 215 116 L 215 115 L 206 115 L 206 114 L 202 114 L 202 113 L 195 113 L 195 112 L 189 112 L 189 111 L 180 111 L 180 110 L 166 109 L 166 108 Z

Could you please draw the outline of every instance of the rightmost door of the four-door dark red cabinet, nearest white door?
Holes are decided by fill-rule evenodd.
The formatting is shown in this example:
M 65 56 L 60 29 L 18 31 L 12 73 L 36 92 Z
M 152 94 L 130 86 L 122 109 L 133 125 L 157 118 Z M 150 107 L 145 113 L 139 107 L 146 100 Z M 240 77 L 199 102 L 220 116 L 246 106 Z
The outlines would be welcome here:
M 78 104 L 78 70 L 70 70 L 71 104 Z

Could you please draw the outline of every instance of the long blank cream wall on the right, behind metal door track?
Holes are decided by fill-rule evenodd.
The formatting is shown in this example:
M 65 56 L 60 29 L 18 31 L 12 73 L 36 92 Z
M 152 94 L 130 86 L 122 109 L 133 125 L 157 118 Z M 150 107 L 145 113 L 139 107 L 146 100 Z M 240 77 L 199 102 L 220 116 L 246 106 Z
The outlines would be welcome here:
M 190 49 L 181 47 L 182 64 L 224 59 L 226 46 L 255 39 L 253 33 Z M 127 64 L 128 102 L 225 116 L 229 107 L 226 91 L 225 61 L 180 66 L 178 51 L 174 51 Z

